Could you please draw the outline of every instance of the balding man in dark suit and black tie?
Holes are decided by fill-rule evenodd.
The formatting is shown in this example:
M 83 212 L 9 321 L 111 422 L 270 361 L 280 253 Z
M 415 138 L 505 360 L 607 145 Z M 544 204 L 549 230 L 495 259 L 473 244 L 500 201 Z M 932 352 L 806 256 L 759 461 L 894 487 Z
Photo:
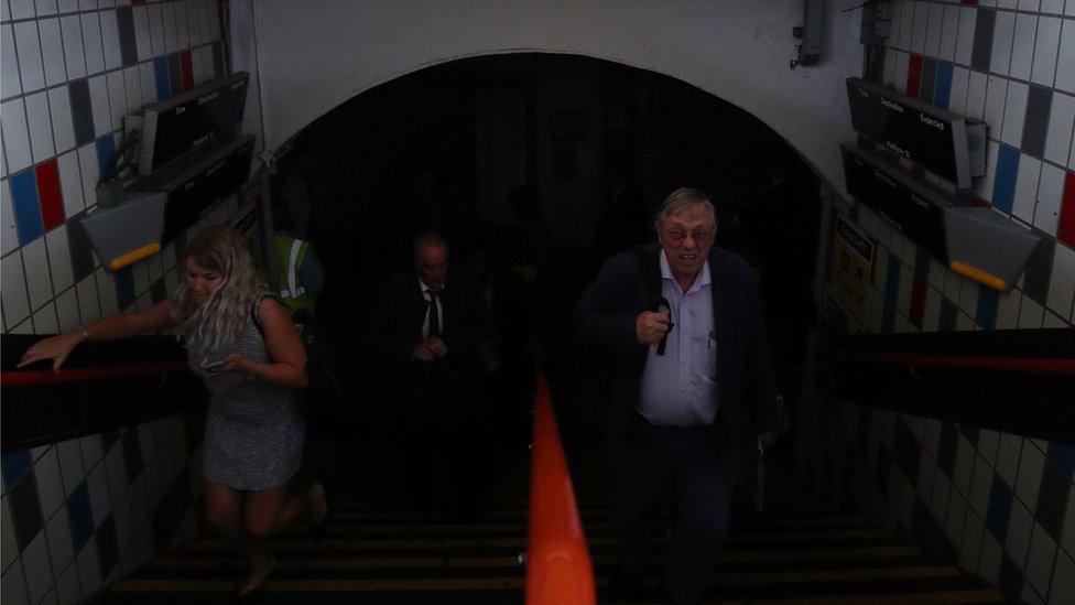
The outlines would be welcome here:
M 380 289 L 366 339 L 382 366 L 386 421 L 403 436 L 387 446 L 403 449 L 398 460 L 409 474 L 432 474 L 435 504 L 460 510 L 477 495 L 469 471 L 485 415 L 478 346 L 492 323 L 477 283 L 448 267 L 442 236 L 417 237 L 414 270 L 397 273 Z

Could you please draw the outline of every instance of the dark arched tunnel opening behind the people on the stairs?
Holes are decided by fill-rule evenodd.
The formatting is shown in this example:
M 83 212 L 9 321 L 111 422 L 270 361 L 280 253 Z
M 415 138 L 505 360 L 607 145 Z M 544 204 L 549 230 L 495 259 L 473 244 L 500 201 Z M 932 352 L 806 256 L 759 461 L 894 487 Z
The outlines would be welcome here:
M 378 284 L 411 266 L 413 235 L 433 228 L 454 266 L 495 277 L 506 363 L 529 367 L 532 331 L 553 378 L 585 376 L 572 309 L 605 257 L 654 239 L 653 213 L 678 186 L 710 194 L 717 246 L 756 269 L 794 399 L 814 316 L 818 179 L 763 122 L 681 80 L 575 55 L 441 64 L 316 120 L 272 182 L 274 212 L 325 267 L 319 321 L 359 331 Z

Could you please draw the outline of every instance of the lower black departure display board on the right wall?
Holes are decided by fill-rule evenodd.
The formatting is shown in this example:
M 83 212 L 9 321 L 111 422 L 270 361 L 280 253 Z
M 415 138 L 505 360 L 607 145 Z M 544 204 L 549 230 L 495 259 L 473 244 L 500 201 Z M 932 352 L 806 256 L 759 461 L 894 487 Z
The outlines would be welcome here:
M 904 236 L 947 264 L 944 209 L 954 204 L 859 148 L 844 143 L 840 153 L 847 193 L 877 210 Z

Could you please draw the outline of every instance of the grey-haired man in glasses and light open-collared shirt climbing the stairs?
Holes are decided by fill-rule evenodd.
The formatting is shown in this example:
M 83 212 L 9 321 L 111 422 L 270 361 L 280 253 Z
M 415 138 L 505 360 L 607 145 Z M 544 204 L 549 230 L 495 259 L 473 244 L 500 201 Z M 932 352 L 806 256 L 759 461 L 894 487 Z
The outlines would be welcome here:
M 750 268 L 713 248 L 716 217 L 699 191 L 673 192 L 655 220 L 660 247 L 609 258 L 576 306 L 583 336 L 611 354 L 608 450 L 619 560 L 613 590 L 638 591 L 648 515 L 675 488 L 662 583 L 696 603 L 728 532 L 740 421 L 772 441 L 777 392 Z

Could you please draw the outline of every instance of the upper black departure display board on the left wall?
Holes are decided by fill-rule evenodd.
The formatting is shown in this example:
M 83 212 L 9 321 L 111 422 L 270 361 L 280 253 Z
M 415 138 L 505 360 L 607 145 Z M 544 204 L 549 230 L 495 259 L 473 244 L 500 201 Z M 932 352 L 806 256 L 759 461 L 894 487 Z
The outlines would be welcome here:
M 146 106 L 139 172 L 153 174 L 241 123 L 249 82 L 239 72 Z

